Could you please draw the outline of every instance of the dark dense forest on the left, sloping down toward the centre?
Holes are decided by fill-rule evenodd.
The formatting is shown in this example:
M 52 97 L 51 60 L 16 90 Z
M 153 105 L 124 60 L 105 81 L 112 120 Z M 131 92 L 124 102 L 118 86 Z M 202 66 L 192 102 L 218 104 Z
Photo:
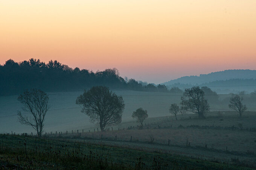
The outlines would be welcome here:
M 25 89 L 32 88 L 46 92 L 61 92 L 84 90 L 92 86 L 139 91 L 182 92 L 177 88 L 168 90 L 165 85 L 155 86 L 134 79 L 124 80 L 116 68 L 93 72 L 87 69 L 72 69 L 56 60 L 44 63 L 33 58 L 19 63 L 9 59 L 4 65 L 0 65 L 0 95 L 19 94 Z

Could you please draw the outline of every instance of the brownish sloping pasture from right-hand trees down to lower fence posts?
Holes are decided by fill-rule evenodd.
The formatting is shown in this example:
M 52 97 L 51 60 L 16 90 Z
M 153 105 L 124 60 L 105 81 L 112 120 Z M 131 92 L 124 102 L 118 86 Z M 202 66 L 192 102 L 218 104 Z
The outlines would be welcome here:
M 105 132 L 97 132 L 97 129 L 96 132 L 94 129 L 90 129 L 90 132 L 84 131 L 81 138 L 114 140 L 117 136 L 119 141 L 130 141 L 132 136 L 134 142 L 150 142 L 154 138 L 154 143 L 168 144 L 168 140 L 171 140 L 171 145 L 178 146 L 186 146 L 188 140 L 190 147 L 205 147 L 207 144 L 208 149 L 226 151 L 227 147 L 229 151 L 242 154 L 246 154 L 248 150 L 256 153 L 256 132 L 249 131 L 249 128 L 255 128 L 255 112 L 245 113 L 242 119 L 239 119 L 237 114 L 232 111 L 226 112 L 222 117 L 218 117 L 218 112 L 211 112 L 207 116 L 207 119 L 197 119 L 196 115 L 186 114 L 182 116 L 184 119 L 177 121 L 171 116 L 151 118 L 145 121 L 146 126 L 143 129 L 137 128 L 135 121 L 126 122 L 119 126 L 113 126 L 113 131 L 111 127 L 110 131 L 106 128 Z M 191 128 L 188 127 L 190 125 L 212 126 L 213 128 L 198 128 L 197 126 Z M 132 128 L 128 129 L 130 126 Z M 229 129 L 225 129 L 226 127 Z M 120 130 L 117 130 L 118 128 Z M 82 131 L 79 130 L 79 132 Z M 72 135 L 78 136 L 74 131 L 74 134 L 63 133 L 62 137 Z

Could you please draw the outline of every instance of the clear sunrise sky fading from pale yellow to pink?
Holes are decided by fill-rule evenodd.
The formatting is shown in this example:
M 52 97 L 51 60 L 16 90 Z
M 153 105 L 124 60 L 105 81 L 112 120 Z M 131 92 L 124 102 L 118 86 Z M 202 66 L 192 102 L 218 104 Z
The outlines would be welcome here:
M 0 64 L 30 58 L 155 84 L 256 69 L 256 1 L 0 0 Z

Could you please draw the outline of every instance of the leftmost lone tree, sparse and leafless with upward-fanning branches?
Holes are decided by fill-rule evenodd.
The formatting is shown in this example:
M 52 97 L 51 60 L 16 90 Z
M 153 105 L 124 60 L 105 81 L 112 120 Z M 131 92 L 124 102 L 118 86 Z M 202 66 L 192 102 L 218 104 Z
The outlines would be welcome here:
M 18 96 L 18 101 L 23 104 L 23 111 L 30 113 L 32 116 L 26 116 L 17 111 L 18 120 L 23 125 L 32 126 L 37 131 L 40 138 L 44 128 L 44 118 L 50 108 L 48 104 L 49 97 L 42 90 L 32 89 L 25 90 Z

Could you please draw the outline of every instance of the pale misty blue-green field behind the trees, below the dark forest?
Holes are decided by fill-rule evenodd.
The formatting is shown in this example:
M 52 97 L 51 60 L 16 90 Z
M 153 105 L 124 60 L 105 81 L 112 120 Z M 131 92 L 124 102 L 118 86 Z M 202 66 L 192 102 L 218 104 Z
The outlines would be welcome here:
M 139 92 L 131 90 L 116 90 L 117 95 L 123 96 L 125 110 L 122 122 L 132 121 L 131 114 L 137 108 L 142 107 L 148 110 L 149 118 L 171 116 L 169 107 L 171 103 L 180 103 L 180 95 L 159 92 Z M 87 115 L 81 113 L 81 107 L 75 104 L 76 98 L 82 92 L 51 92 L 49 95 L 50 110 L 45 119 L 45 130 L 66 131 L 76 129 L 97 128 L 97 125 L 89 121 Z M 230 111 L 228 108 L 228 98 L 230 95 L 220 96 L 219 102 L 210 102 L 211 111 Z M 0 96 L 0 133 L 34 132 L 29 126 L 21 125 L 17 122 L 17 110 L 22 110 L 22 105 L 17 101 L 17 95 Z M 249 111 L 254 111 L 254 100 L 246 100 Z M 224 119 L 225 120 L 225 119 Z M 247 123 L 245 123 L 247 124 Z

